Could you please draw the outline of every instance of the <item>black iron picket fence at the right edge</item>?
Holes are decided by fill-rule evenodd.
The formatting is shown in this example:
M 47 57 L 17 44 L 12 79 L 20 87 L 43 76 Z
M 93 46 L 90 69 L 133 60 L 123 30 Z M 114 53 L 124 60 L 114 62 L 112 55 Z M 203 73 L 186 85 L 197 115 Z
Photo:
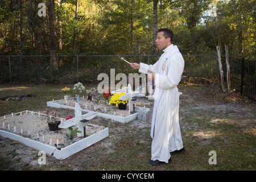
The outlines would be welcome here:
M 256 101 L 256 61 L 229 57 L 230 84 L 243 96 Z

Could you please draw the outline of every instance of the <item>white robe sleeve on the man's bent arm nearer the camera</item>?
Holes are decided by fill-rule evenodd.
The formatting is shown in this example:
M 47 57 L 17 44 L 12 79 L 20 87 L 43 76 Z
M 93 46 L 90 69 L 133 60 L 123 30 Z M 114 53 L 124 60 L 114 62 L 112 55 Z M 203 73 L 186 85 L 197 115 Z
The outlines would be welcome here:
M 175 88 L 180 82 L 183 69 L 184 59 L 181 54 L 176 53 L 168 64 L 167 76 L 156 74 L 155 85 L 163 90 Z

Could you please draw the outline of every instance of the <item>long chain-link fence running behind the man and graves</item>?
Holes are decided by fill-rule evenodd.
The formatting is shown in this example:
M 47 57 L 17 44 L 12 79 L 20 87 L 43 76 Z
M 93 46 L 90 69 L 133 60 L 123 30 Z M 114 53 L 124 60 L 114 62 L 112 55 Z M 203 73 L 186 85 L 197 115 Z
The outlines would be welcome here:
M 138 73 L 121 57 L 130 63 L 154 64 L 159 55 L 67 55 L 55 56 L 58 69 L 52 69 L 51 56 L 0 56 L 1 83 L 35 82 L 62 83 L 75 82 L 97 83 L 100 73 L 110 74 L 110 69 L 118 73 Z M 218 77 L 217 55 L 183 55 L 185 68 L 183 76 L 187 82 L 194 78 L 207 80 Z

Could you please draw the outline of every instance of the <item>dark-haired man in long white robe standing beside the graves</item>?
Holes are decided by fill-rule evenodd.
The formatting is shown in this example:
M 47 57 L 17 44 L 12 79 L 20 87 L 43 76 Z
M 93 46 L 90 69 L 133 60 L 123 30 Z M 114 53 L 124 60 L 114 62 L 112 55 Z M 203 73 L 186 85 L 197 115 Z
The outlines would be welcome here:
M 162 28 L 155 40 L 162 56 L 154 65 L 131 63 L 131 67 L 147 73 L 155 81 L 154 110 L 151 123 L 150 164 L 170 163 L 171 154 L 184 152 L 179 126 L 179 92 L 177 85 L 184 69 L 184 59 L 172 44 L 172 31 Z

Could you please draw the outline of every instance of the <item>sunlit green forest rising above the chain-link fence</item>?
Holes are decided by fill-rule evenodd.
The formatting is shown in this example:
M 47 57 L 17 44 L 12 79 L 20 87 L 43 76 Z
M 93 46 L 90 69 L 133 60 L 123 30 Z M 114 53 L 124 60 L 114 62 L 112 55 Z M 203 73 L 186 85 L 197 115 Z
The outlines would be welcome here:
M 254 0 L 2 0 L 0 55 L 160 55 L 159 28 L 174 32 L 183 55 L 216 55 L 216 46 L 225 55 L 228 45 L 230 56 L 255 59 Z M 53 70 L 63 63 L 49 59 Z

